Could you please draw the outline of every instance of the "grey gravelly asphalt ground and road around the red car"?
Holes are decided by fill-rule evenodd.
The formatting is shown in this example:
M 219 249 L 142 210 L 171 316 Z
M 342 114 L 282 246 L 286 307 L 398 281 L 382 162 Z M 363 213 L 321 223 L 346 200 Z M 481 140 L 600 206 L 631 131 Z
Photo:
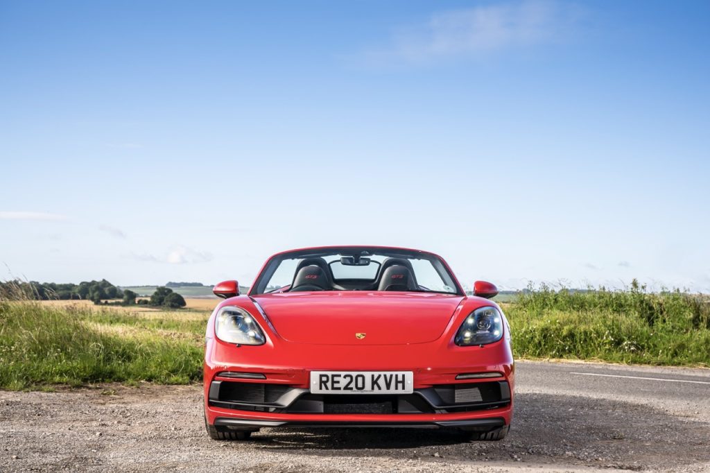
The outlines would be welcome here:
M 200 386 L 0 391 L 0 472 L 710 472 L 710 370 L 520 361 L 501 442 L 435 430 L 261 430 L 214 442 Z

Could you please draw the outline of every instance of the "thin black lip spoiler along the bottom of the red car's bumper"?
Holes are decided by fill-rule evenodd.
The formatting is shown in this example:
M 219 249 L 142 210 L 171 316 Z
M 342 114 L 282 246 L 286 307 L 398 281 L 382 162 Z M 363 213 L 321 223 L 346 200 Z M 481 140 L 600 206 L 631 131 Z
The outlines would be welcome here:
M 503 427 L 506 421 L 503 418 L 468 419 L 468 420 L 437 420 L 433 422 L 312 422 L 293 420 L 251 420 L 218 417 L 214 420 L 216 427 L 231 428 L 234 430 L 256 430 L 266 427 L 282 428 L 469 428 L 474 430 L 493 430 Z

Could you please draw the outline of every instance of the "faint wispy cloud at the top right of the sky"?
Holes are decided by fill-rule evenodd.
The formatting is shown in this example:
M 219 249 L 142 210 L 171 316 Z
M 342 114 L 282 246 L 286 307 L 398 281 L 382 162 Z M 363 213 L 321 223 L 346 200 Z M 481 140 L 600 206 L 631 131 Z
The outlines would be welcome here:
M 391 45 L 366 53 L 365 59 L 375 65 L 423 64 L 552 43 L 568 36 L 580 17 L 574 4 L 545 0 L 444 11 L 423 25 L 400 29 Z

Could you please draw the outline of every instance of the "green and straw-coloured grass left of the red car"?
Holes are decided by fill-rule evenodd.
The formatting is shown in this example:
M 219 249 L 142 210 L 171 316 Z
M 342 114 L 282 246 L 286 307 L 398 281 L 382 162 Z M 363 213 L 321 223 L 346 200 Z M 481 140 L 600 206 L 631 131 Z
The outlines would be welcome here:
M 209 312 L 158 314 L 0 301 L 0 388 L 197 381 Z

